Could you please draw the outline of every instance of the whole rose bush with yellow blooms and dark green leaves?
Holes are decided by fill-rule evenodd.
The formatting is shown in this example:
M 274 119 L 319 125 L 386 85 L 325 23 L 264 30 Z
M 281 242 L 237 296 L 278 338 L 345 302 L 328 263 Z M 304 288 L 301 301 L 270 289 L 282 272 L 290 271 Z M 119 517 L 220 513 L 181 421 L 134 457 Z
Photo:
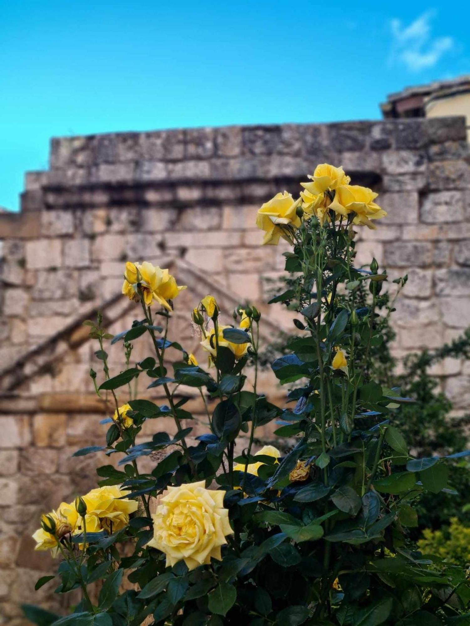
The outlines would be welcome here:
M 415 458 L 414 442 L 396 426 L 400 407 L 413 399 L 380 384 L 368 367 L 370 350 L 383 341 L 377 302 L 387 273 L 375 259 L 370 270 L 355 267 L 354 227 L 374 228 L 385 212 L 377 194 L 350 185 L 340 167 L 319 165 L 310 180 L 300 198 L 278 193 L 256 217 L 264 244 L 281 237 L 291 244 L 284 254 L 290 287 L 273 299 L 296 312 L 296 334 L 271 366 L 288 386 L 282 408 L 258 389 L 263 320 L 253 305 L 240 305 L 233 325 L 222 323 L 226 312 L 210 295 L 192 310 L 207 368 L 168 338 L 182 287 L 149 263 L 125 268 L 123 293 L 142 310 L 132 328 L 112 337 L 102 317 L 85 322 L 100 347 L 103 374 L 91 376 L 108 401 L 110 427 L 105 444 L 75 454 L 118 461 L 98 469 L 98 490 L 43 518 L 48 536 L 35 533 L 41 548 L 63 557 L 56 592 L 81 588 L 83 597 L 65 617 L 25 607 L 33 622 L 470 623 L 466 572 L 420 553 L 408 531 L 417 524 L 418 496 L 446 490 L 449 464 L 468 452 Z M 364 289 L 367 306 L 359 299 Z M 150 336 L 154 354 L 131 366 L 130 344 L 142 336 Z M 122 342 L 126 356 L 127 369 L 114 376 L 106 341 Z M 172 371 L 170 350 L 178 355 Z M 165 403 L 129 396 L 134 379 L 163 389 Z M 201 394 L 207 410 L 207 433 L 194 439 L 189 396 L 175 394 L 181 386 Z M 137 443 L 150 419 L 154 435 Z M 174 436 L 165 432 L 168 419 Z M 256 427 L 273 420 L 279 449 L 255 454 Z M 143 474 L 139 459 L 155 452 L 163 458 Z M 123 541 L 131 555 L 117 549 Z M 135 588 L 121 587 L 124 574 Z M 102 589 L 91 602 L 88 585 L 97 580 Z

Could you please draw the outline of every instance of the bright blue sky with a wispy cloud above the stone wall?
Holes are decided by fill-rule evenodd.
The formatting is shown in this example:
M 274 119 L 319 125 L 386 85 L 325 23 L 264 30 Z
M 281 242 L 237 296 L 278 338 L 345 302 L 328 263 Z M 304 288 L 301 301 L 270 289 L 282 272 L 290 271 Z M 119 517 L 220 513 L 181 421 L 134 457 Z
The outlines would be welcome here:
M 51 136 L 380 118 L 387 93 L 470 73 L 449 7 L 0 0 L 0 206 Z

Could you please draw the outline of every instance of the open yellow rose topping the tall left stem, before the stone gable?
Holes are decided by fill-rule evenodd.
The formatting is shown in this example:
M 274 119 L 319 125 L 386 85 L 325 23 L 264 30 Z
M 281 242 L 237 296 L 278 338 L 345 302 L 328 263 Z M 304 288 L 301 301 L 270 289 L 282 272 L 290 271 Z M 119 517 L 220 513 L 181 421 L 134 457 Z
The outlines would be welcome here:
M 140 290 L 144 296 L 145 305 L 150 306 L 153 300 L 157 300 L 162 307 L 171 310 L 168 300 L 174 300 L 185 286 L 176 284 L 174 276 L 167 269 L 162 269 L 158 265 L 152 265 L 148 261 L 144 263 L 126 263 L 122 293 L 127 295 L 129 300 L 140 301 Z

